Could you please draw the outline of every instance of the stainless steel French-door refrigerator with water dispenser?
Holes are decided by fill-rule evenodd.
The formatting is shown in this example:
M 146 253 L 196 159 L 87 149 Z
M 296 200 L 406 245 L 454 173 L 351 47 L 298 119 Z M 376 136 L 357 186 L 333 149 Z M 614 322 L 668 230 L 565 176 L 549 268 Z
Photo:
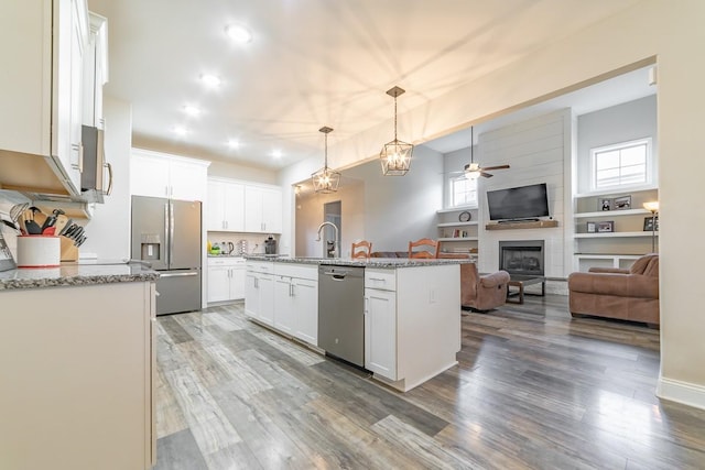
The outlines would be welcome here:
M 156 315 L 200 308 L 200 203 L 132 196 L 131 256 L 160 272 Z

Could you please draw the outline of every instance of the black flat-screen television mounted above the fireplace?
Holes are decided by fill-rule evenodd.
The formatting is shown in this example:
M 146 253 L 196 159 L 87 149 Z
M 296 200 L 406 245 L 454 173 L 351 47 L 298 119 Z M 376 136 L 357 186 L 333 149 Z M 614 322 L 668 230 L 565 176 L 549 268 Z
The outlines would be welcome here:
M 549 217 L 546 184 L 487 192 L 490 220 L 531 220 Z

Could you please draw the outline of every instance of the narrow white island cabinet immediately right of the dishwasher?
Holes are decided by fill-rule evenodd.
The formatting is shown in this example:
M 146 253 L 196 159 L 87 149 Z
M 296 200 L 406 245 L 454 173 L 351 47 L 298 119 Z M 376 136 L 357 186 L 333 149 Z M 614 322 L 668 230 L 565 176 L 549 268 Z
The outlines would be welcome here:
M 375 277 L 373 271 L 367 270 L 365 276 L 365 285 L 375 285 L 369 278 Z M 397 380 L 395 291 L 365 289 L 365 369 Z

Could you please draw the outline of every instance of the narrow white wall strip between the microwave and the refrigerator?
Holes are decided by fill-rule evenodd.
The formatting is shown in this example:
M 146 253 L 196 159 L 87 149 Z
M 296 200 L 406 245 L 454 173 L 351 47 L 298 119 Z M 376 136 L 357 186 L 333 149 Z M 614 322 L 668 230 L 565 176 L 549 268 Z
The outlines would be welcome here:
M 87 239 L 79 255 L 102 260 L 130 258 L 130 152 L 132 107 L 129 102 L 104 97 L 106 160 L 112 165 L 112 194 L 96 205 L 85 223 Z

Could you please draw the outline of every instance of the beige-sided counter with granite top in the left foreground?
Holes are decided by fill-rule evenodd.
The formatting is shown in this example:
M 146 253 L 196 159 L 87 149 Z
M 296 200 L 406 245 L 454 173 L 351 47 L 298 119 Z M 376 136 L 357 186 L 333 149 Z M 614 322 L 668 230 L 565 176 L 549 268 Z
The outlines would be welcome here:
M 0 272 L 0 468 L 155 458 L 155 281 L 141 264 Z

